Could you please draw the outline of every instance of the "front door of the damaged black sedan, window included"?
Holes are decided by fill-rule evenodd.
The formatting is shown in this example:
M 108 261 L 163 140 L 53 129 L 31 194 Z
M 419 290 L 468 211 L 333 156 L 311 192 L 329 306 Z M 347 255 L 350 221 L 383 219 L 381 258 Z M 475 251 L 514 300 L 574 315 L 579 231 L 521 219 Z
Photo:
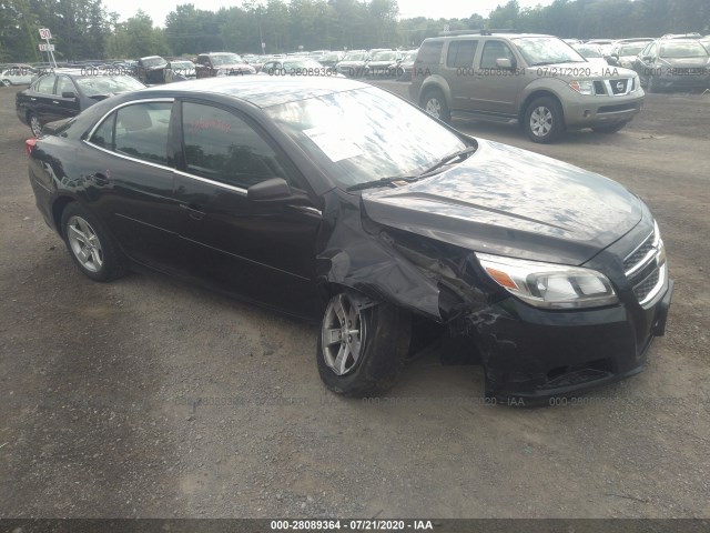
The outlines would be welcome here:
M 248 300 L 312 315 L 321 212 L 246 198 L 251 185 L 271 178 L 305 191 L 294 165 L 251 119 L 231 109 L 184 101 L 182 133 L 175 198 L 191 273 Z

